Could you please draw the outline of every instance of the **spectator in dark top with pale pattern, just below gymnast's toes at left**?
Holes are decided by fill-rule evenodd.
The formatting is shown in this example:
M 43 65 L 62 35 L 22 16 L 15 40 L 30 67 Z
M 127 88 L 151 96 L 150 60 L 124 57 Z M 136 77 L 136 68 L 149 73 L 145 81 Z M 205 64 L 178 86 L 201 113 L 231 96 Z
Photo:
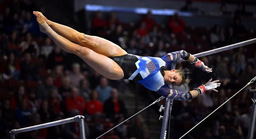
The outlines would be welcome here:
M 22 53 L 29 52 L 33 57 L 38 57 L 39 47 L 37 42 L 33 41 L 30 33 L 26 34 L 26 41 L 19 44 Z

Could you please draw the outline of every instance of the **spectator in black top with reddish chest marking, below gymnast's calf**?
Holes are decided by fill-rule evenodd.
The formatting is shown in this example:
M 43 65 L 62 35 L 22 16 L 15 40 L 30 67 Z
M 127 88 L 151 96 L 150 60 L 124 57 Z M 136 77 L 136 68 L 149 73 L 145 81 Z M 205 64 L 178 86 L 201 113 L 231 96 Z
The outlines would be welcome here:
M 64 55 L 58 46 L 54 48 L 47 59 L 47 68 L 53 69 L 56 65 L 64 65 Z

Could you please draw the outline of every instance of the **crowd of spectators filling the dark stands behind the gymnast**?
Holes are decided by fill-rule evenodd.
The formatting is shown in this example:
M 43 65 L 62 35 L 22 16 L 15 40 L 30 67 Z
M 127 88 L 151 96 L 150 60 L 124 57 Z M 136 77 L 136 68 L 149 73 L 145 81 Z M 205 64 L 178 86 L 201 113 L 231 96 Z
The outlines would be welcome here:
M 221 6 L 222 11 L 226 10 L 225 5 Z M 0 138 L 9 138 L 11 129 L 76 115 L 86 116 L 87 138 L 97 138 L 129 116 L 125 99 L 119 97 L 119 93 L 124 92 L 120 89 L 123 82 L 102 77 L 41 33 L 32 15 L 37 5 L 29 0 L 18 0 L 0 3 L 0 7 Z M 187 2 L 181 10 L 189 9 L 192 9 L 191 3 Z M 118 44 L 129 54 L 162 57 L 178 50 L 195 54 L 255 38 L 254 31 L 246 29 L 241 22 L 244 11 L 244 6 L 238 4 L 233 24 L 227 27 L 216 24 L 211 30 L 186 26 L 178 13 L 170 17 L 169 22 L 158 24 L 149 11 L 138 23 L 128 24 L 119 21 L 115 12 L 105 13 L 110 15 L 107 19 L 98 11 L 92 17 L 90 31 L 91 35 Z M 199 59 L 214 72 L 203 73 L 188 63 L 177 65 L 177 68 L 188 67 L 193 71 L 190 88 L 206 83 L 211 77 L 219 79 L 222 85 L 218 93 L 207 91 L 189 101 L 175 101 L 171 114 L 176 138 L 256 76 L 255 47 L 240 47 Z M 134 85 L 129 81 L 125 83 Z M 191 135 L 195 138 L 246 138 L 253 97 L 248 89 L 254 89 L 253 85 L 225 104 Z M 126 87 L 126 92 L 132 92 L 130 90 Z M 152 92 L 135 95 L 146 96 L 147 93 Z M 159 97 L 157 93 L 153 95 Z M 101 139 L 152 139 L 142 121 L 141 117 L 135 117 Z M 73 122 L 19 133 L 15 137 L 77 139 L 79 125 Z

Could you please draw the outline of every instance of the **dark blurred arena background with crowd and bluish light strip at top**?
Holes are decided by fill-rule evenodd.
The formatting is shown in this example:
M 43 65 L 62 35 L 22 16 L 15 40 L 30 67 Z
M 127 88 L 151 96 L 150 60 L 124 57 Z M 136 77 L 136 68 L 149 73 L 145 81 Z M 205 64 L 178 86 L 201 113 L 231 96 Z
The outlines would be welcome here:
M 33 11 L 140 56 L 162 57 L 179 50 L 197 54 L 256 38 L 255 0 L 0 0 L 1 139 L 11 138 L 13 129 L 77 115 L 84 116 L 86 138 L 95 139 L 161 97 L 132 80 L 109 80 L 61 50 L 40 32 Z M 173 100 L 165 138 L 183 136 L 256 76 L 256 43 L 199 59 L 213 72 L 177 63 L 176 69 L 186 67 L 191 73 L 186 91 L 210 78 L 220 80 L 221 86 L 189 101 Z M 250 89 L 255 82 L 183 138 L 246 139 L 255 116 Z M 164 110 L 160 113 L 159 108 L 165 101 L 100 139 L 160 138 L 165 132 L 159 120 Z M 11 133 L 16 139 L 85 138 L 80 131 L 80 122 L 70 122 Z

